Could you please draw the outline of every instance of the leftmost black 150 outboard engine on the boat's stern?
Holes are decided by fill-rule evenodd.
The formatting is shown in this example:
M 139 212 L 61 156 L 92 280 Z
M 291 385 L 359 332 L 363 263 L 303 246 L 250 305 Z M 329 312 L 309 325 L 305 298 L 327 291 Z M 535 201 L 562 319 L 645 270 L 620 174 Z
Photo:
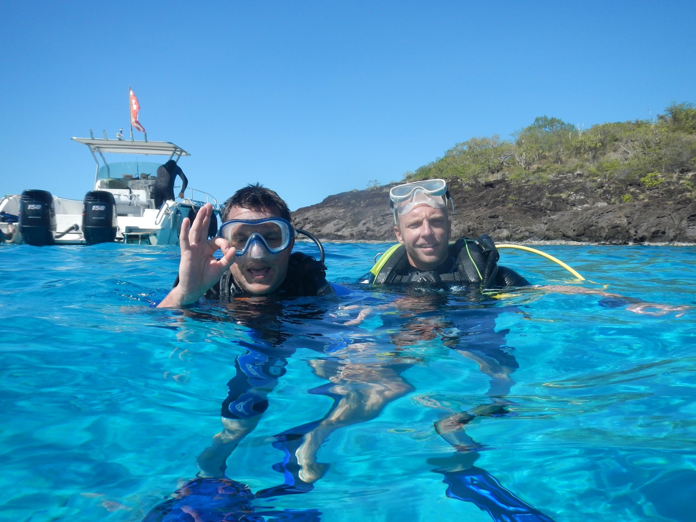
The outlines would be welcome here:
M 33 246 L 53 244 L 56 209 L 49 191 L 28 189 L 19 198 L 19 233 Z

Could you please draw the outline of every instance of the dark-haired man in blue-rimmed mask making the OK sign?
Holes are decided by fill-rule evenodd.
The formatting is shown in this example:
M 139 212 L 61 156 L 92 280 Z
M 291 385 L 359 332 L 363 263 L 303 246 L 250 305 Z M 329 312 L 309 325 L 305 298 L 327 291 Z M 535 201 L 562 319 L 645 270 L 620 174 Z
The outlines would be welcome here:
M 246 353 L 235 360 L 235 377 L 221 408 L 223 430 L 198 457 L 200 477 L 224 477 L 226 460 L 251 433 L 269 406 L 267 395 L 285 374 L 285 336 L 274 329 L 278 301 L 272 297 L 334 296 L 338 285 L 326 281 L 322 262 L 292 252 L 295 231 L 290 209 L 275 191 L 248 185 L 229 198 L 221 211 L 219 236 L 207 239 L 212 205 L 201 207 L 193 224 L 184 219 L 181 260 L 173 289 L 158 307 L 181 307 L 201 297 L 233 305 L 232 313 L 254 329 L 255 342 L 238 342 Z M 214 253 L 221 250 L 222 258 Z M 240 297 L 269 296 L 259 299 Z M 234 302 L 236 301 L 236 302 Z M 278 330 L 278 331 L 276 331 Z

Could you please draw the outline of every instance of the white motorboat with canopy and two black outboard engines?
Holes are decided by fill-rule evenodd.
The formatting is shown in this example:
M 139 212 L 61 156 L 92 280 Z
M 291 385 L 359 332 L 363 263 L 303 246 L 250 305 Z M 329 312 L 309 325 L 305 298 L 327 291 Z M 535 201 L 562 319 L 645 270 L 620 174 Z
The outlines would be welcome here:
M 182 200 L 168 200 L 155 207 L 153 187 L 162 156 L 179 161 L 189 152 L 168 141 L 72 138 L 86 145 L 97 164 L 94 188 L 83 200 L 53 196 L 29 189 L 0 199 L 0 242 L 35 246 L 122 242 L 175 245 L 184 218 L 196 216 L 205 203 L 212 203 L 209 235 L 217 230 L 220 205 L 209 193 L 187 188 Z M 116 155 L 120 161 L 109 162 Z M 176 190 L 175 190 L 176 191 Z M 215 229 L 215 230 L 213 230 Z

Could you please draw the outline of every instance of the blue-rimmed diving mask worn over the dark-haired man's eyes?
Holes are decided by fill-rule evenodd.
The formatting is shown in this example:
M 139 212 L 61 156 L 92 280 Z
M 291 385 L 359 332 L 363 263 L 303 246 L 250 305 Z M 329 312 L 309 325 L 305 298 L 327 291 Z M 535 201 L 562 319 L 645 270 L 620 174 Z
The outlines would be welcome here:
M 290 246 L 295 230 L 283 218 L 232 219 L 220 226 L 219 236 L 236 249 L 235 255 L 242 257 L 250 249 L 255 250 L 254 244 L 264 246 L 270 254 L 282 252 Z

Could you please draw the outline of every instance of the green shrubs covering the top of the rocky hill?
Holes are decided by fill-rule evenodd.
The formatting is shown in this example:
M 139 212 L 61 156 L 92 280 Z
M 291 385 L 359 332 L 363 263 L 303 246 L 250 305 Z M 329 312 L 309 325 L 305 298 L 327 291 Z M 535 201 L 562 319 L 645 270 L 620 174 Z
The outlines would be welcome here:
M 601 123 L 587 130 L 539 116 L 512 137 L 457 143 L 443 157 L 406 173 L 405 179 L 472 182 L 503 177 L 542 182 L 578 174 L 618 182 L 640 180 L 651 188 L 649 184 L 665 176 L 696 171 L 696 109 L 688 103 L 673 103 L 654 121 Z

